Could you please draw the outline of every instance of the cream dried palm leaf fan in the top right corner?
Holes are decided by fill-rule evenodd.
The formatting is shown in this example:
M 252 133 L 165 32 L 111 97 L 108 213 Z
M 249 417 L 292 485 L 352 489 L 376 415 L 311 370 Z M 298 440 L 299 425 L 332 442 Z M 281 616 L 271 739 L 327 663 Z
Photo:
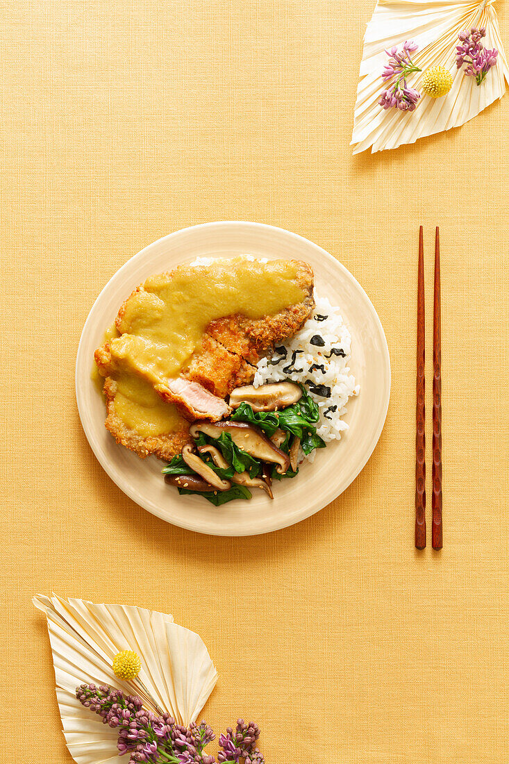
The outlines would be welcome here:
M 509 83 L 509 68 L 502 47 L 494 0 L 378 0 L 366 29 L 360 82 L 352 134 L 353 153 L 371 147 L 384 151 L 409 144 L 443 130 L 459 127 L 486 106 L 500 99 Z M 497 65 L 478 86 L 475 77 L 456 67 L 458 35 L 472 27 L 485 27 L 483 42 L 498 50 Z M 412 60 L 422 70 L 410 76 L 409 85 L 420 89 L 430 66 L 444 66 L 452 74 L 448 95 L 432 99 L 423 95 L 415 112 L 384 110 L 378 101 L 384 85 L 381 72 L 387 63 L 385 49 L 414 40 L 419 50 Z

